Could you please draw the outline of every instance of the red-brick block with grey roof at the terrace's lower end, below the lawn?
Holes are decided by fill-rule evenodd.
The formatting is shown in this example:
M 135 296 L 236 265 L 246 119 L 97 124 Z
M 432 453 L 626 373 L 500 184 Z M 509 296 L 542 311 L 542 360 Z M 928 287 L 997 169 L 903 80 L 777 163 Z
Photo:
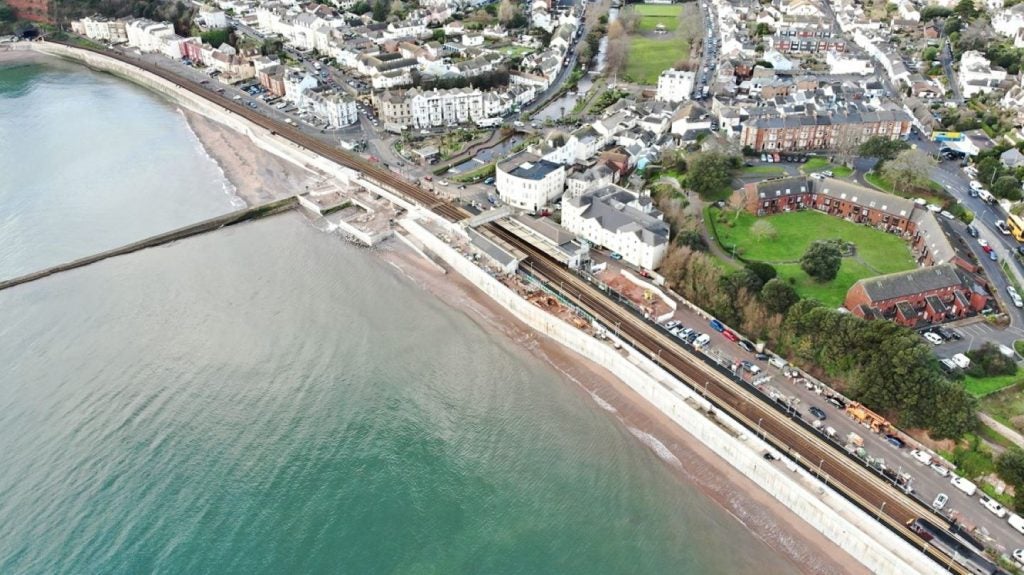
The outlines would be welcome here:
M 859 317 L 913 327 L 973 315 L 987 303 L 988 295 L 970 274 L 939 264 L 861 279 L 847 292 L 844 305 Z

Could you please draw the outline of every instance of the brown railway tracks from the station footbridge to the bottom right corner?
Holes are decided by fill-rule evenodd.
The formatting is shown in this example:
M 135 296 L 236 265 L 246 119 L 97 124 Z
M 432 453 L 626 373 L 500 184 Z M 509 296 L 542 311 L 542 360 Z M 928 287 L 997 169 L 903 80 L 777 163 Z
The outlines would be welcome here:
M 803 428 L 793 417 L 759 397 L 752 388 L 707 365 L 703 360 L 679 345 L 678 341 L 659 333 L 642 318 L 612 302 L 610 298 L 597 293 L 593 285 L 551 260 L 544 252 L 520 239 L 512 231 L 497 222 L 487 224 L 486 227 L 503 240 L 527 254 L 529 267 L 547 278 L 551 285 L 560 286 L 564 296 L 574 300 L 595 317 L 601 318 L 609 328 L 615 328 L 621 338 L 631 341 L 635 348 L 655 359 L 680 381 L 697 393 L 705 394 L 716 408 L 742 423 L 752 432 L 763 436 L 778 451 L 794 457 L 805 470 L 821 477 L 861 510 L 924 549 L 926 555 L 938 564 L 946 566 L 955 573 L 970 573 L 955 563 L 950 567 L 951 558 L 929 545 L 920 535 L 907 528 L 908 522 L 920 517 L 928 517 L 934 521 L 931 512 L 920 502 L 894 489 L 847 453 L 816 437 L 814 432 Z M 943 527 L 948 528 L 949 525 L 945 524 Z

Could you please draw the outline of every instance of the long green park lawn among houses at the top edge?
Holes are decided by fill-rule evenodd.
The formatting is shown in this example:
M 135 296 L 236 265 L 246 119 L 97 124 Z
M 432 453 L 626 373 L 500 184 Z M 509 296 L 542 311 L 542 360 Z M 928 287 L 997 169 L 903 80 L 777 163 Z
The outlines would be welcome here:
M 690 57 L 689 39 L 681 35 L 678 26 L 681 17 L 698 17 L 695 4 L 634 4 L 632 9 L 640 17 L 637 30 L 629 36 L 624 73 L 638 84 L 657 84 L 662 72 Z M 654 34 L 658 24 L 670 32 Z

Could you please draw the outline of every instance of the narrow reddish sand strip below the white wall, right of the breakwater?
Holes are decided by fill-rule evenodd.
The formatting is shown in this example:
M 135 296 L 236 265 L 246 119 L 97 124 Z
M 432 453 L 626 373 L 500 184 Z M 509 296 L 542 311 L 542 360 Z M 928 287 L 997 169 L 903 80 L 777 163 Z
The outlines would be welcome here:
M 551 364 L 567 383 L 625 426 L 637 438 L 638 448 L 654 451 L 680 481 L 696 485 L 771 548 L 800 566 L 802 572 L 820 575 L 869 573 L 849 554 L 732 469 L 609 371 L 538 335 L 461 275 L 440 273 L 404 245 L 391 240 L 378 253 L 420 288 Z

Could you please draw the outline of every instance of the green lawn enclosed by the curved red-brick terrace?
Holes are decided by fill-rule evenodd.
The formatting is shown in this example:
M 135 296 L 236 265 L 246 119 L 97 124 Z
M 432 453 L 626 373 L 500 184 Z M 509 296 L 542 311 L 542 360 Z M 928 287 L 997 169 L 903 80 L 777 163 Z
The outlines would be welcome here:
M 717 210 L 709 212 L 711 217 Z M 797 292 L 825 305 L 842 305 L 846 292 L 855 281 L 884 273 L 915 267 L 910 250 L 896 235 L 850 223 L 818 212 L 793 212 L 757 218 L 740 212 L 730 214 L 728 224 L 715 221 L 720 244 L 726 251 L 735 246 L 746 260 L 772 264 L 779 276 L 791 279 Z M 751 233 L 754 222 L 763 219 L 777 231 L 773 239 L 758 239 Z M 815 239 L 841 238 L 856 246 L 855 258 L 844 258 L 839 273 L 831 281 L 819 283 L 800 268 L 800 257 Z

